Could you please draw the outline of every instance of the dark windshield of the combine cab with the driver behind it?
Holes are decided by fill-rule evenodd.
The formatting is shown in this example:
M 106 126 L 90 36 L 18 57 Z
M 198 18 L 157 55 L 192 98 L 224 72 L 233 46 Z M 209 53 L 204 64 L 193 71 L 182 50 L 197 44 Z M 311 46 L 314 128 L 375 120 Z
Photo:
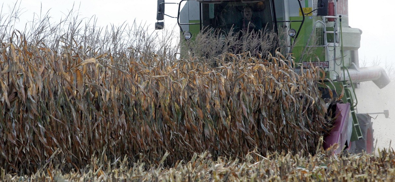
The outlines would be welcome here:
M 269 0 L 259 2 L 223 1 L 202 4 L 203 28 L 229 32 L 251 32 L 273 29 Z

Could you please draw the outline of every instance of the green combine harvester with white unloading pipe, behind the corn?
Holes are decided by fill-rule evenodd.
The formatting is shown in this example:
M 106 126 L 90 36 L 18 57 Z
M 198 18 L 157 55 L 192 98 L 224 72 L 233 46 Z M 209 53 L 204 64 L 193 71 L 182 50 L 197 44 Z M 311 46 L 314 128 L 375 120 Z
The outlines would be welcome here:
M 380 89 L 389 84 L 382 67 L 359 67 L 358 48 L 362 31 L 348 24 L 348 0 L 181 0 L 177 22 L 186 41 L 202 30 L 274 30 L 286 32 L 285 52 L 292 56 L 295 71 L 319 66 L 325 71 L 323 99 L 337 96 L 332 103 L 334 128 L 324 147 L 339 145 L 343 150 L 373 152 L 373 129 L 367 114 L 356 113 L 355 88 L 373 81 Z M 164 0 L 158 0 L 156 29 L 163 28 Z M 385 112 L 388 117 L 388 112 Z

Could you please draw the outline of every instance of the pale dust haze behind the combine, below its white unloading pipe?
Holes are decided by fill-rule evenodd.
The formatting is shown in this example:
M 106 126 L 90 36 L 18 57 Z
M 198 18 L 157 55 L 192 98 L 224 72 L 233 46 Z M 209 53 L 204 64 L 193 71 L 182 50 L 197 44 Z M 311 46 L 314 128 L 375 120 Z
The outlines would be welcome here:
M 373 82 L 360 83 L 360 88 L 356 89 L 358 99 L 358 113 L 377 113 L 389 110 L 390 117 L 384 115 L 370 115 L 373 122 L 373 136 L 376 151 L 379 148 L 388 149 L 392 141 L 391 148 L 395 146 L 395 81 L 392 81 L 383 89 L 379 89 Z M 377 142 L 376 142 L 377 140 Z M 394 148 L 395 149 L 395 148 Z

